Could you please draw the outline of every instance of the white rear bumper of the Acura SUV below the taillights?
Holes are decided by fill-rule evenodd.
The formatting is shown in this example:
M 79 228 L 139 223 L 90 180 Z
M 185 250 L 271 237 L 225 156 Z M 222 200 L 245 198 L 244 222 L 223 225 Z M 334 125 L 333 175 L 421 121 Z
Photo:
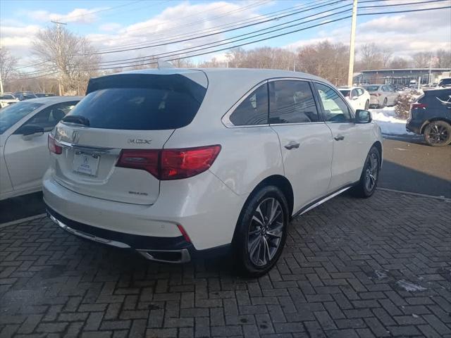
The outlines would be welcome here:
M 128 244 L 132 249 L 180 249 L 180 246 L 173 245 L 183 238 L 180 225 L 197 251 L 230 244 L 247 198 L 233 193 L 208 170 L 185 180 L 161 181 L 160 196 L 151 206 L 78 194 L 58 184 L 52 178 L 51 170 L 44 175 L 42 191 L 49 212 L 53 211 L 62 223 L 85 225 L 89 231 L 80 231 Z M 70 224 L 67 225 L 72 227 Z M 119 237 L 110 236 L 114 233 Z M 140 238 L 148 242 L 148 237 L 154 237 L 156 242 L 164 245 L 151 247 L 139 241 L 140 245 L 135 243 Z

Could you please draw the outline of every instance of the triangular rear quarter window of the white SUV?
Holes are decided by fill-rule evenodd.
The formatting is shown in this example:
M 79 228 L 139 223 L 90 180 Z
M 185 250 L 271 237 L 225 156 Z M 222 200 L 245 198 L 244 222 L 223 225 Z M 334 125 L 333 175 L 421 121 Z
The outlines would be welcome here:
M 267 83 L 261 84 L 235 108 L 230 115 L 230 122 L 233 125 L 266 125 L 268 123 Z

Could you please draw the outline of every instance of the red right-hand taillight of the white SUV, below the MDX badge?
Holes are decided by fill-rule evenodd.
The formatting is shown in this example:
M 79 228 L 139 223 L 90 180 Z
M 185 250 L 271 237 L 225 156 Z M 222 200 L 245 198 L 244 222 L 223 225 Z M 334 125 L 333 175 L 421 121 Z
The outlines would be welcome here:
M 186 149 L 124 149 L 116 166 L 146 170 L 159 180 L 180 180 L 209 169 L 219 151 L 219 145 Z

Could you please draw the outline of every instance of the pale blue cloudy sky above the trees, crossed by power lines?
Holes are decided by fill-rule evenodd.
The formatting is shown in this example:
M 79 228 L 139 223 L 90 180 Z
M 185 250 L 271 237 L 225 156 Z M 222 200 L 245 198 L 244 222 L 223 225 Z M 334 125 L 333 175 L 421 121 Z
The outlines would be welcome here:
M 384 4 L 400 4 L 406 0 L 390 0 Z M 409 0 L 424 1 L 424 0 Z M 448 1 L 448 2 L 447 2 Z M 361 9 L 360 13 L 369 11 L 390 11 L 401 8 L 420 8 L 424 6 L 446 6 L 447 0 L 438 4 L 415 6 L 397 6 L 392 8 Z M 328 3 L 326 0 L 263 0 L 263 1 L 178 1 L 178 0 L 103 0 L 103 1 L 0 1 L 0 44 L 10 49 L 24 64 L 32 60 L 30 47 L 37 30 L 51 25 L 50 20 L 66 22 L 66 27 L 75 34 L 87 37 L 99 50 L 119 49 L 122 46 L 135 46 L 155 39 L 170 39 L 199 30 L 209 31 L 219 25 L 230 25 L 243 20 L 252 20 L 257 15 L 297 6 L 317 6 Z M 137 57 L 149 54 L 173 51 L 174 49 L 196 46 L 220 39 L 252 32 L 268 25 L 278 25 L 286 20 L 293 20 L 319 11 L 332 11 L 333 8 L 351 4 L 343 0 L 340 4 L 328 5 L 290 18 L 272 21 L 243 30 L 223 33 L 214 37 L 197 39 L 191 44 L 179 43 L 161 46 L 157 49 L 126 51 L 117 54 L 105 54 L 104 60 L 124 57 Z M 372 3 L 366 3 L 368 6 Z M 381 2 L 373 3 L 375 5 Z M 362 6 L 362 4 L 360 5 Z M 350 7 L 346 7 L 350 8 Z M 328 13 L 321 14 L 327 15 Z M 335 16 L 335 18 L 340 15 Z M 263 18 L 263 17 L 259 17 Z M 416 51 L 433 49 L 450 49 L 451 11 L 449 9 L 406 14 L 388 14 L 377 16 L 359 16 L 357 25 L 357 49 L 364 43 L 375 42 L 381 48 L 389 48 L 398 56 L 409 57 Z M 319 23 L 316 21 L 315 23 Z M 222 26 L 223 27 L 223 26 Z M 329 39 L 331 42 L 349 42 L 350 19 L 338 23 L 322 25 L 310 30 L 297 32 L 276 39 L 249 45 L 278 46 L 293 51 L 304 44 Z M 196 58 L 202 61 L 216 56 L 221 59 L 225 52 Z

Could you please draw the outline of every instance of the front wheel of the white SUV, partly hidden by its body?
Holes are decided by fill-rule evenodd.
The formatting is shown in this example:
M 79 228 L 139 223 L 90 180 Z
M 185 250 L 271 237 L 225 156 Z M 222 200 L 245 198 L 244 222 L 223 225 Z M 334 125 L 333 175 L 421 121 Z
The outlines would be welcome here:
M 374 164 L 374 161 L 376 161 L 376 164 Z M 351 189 L 352 194 L 356 197 L 361 197 L 364 199 L 371 197 L 376 191 L 376 187 L 378 185 L 380 169 L 381 154 L 379 154 L 376 146 L 372 146 L 366 156 L 359 183 Z

